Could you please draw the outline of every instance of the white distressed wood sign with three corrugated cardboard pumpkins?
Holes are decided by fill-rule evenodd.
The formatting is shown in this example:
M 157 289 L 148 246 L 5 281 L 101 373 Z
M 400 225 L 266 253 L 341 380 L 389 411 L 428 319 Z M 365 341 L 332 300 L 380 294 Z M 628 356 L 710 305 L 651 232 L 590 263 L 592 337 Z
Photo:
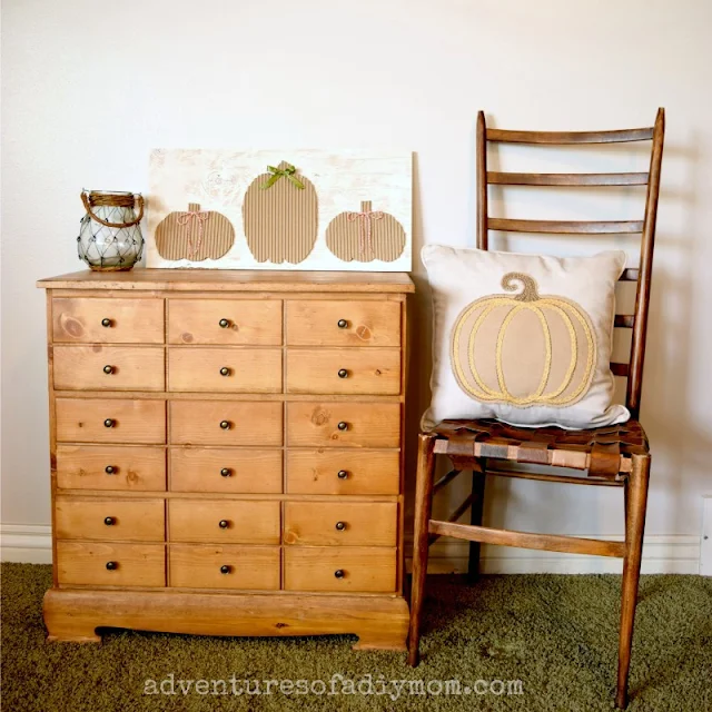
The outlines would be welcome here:
M 148 267 L 409 271 L 412 154 L 155 149 Z

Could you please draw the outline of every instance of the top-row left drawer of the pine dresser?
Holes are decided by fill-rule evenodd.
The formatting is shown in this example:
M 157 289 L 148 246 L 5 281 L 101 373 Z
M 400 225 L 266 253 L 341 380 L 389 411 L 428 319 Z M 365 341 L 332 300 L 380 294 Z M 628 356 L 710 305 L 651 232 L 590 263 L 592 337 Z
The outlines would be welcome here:
M 52 299 L 52 339 L 75 344 L 162 344 L 164 300 Z

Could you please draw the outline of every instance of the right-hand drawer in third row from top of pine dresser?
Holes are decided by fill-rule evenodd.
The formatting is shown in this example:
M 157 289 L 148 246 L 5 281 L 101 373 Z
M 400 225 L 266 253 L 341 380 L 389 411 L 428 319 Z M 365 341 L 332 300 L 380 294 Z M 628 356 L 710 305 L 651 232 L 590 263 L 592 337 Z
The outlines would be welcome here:
M 291 447 L 398 447 L 398 403 L 300 402 L 287 404 Z

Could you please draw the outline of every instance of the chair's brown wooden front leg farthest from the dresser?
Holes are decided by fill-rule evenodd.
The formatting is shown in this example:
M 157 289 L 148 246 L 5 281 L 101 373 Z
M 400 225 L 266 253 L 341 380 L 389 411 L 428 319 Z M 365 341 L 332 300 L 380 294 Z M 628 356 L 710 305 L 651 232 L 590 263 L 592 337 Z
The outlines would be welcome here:
M 633 456 L 633 472 L 625 484 L 625 546 L 621 600 L 621 633 L 619 639 L 619 682 L 615 704 L 627 706 L 627 675 L 631 666 L 633 623 L 637 603 L 637 583 L 641 573 L 643 531 L 647 506 L 650 456 Z

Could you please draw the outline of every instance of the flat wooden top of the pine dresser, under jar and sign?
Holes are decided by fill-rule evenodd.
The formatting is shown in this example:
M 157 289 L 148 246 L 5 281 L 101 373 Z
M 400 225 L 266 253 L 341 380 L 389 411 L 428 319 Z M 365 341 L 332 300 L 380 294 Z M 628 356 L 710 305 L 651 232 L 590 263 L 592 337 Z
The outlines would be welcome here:
M 413 293 L 406 273 L 278 271 L 246 269 L 85 269 L 40 279 L 43 289 L 125 289 L 160 291 L 333 291 Z

